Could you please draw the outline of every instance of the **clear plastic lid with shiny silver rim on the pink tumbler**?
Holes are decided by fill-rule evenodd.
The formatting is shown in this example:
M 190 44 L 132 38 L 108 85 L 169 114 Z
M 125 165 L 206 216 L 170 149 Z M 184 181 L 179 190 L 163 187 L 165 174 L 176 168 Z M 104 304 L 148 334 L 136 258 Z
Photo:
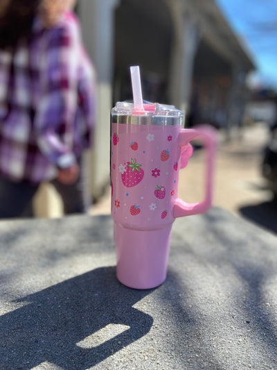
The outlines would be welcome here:
M 112 122 L 159 126 L 183 126 L 184 112 L 175 106 L 143 101 L 144 112 L 134 110 L 132 101 L 118 101 L 111 110 Z

